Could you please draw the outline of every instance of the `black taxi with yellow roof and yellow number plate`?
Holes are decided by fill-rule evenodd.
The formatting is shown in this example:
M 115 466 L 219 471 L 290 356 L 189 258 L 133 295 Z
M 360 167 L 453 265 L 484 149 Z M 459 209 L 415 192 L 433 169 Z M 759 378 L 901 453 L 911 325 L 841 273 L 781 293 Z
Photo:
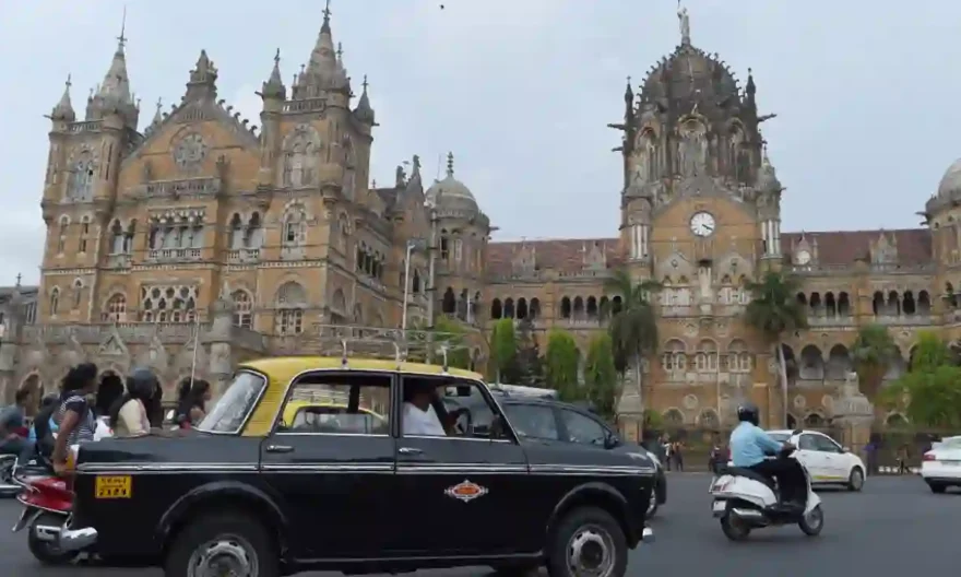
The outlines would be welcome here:
M 450 411 L 447 398 L 472 398 Z M 645 527 L 643 451 L 543 444 L 480 375 L 337 357 L 241 365 L 178 437 L 81 447 L 62 550 L 166 575 L 491 566 L 619 577 Z

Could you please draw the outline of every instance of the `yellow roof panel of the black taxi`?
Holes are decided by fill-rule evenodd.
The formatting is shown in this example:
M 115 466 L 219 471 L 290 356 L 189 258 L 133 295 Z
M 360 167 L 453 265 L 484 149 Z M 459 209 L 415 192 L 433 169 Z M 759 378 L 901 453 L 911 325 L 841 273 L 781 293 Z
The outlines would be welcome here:
M 240 363 L 239 368 L 245 367 L 263 373 L 271 380 L 289 382 L 290 379 L 305 370 L 340 369 L 343 367 L 343 360 L 339 356 L 273 356 Z M 388 370 L 411 375 L 441 375 L 444 373 L 443 367 L 439 365 L 398 363 L 396 361 L 384 358 L 364 357 L 348 357 L 346 368 L 348 370 Z M 449 367 L 447 374 L 461 378 L 484 380 L 479 373 L 462 368 Z

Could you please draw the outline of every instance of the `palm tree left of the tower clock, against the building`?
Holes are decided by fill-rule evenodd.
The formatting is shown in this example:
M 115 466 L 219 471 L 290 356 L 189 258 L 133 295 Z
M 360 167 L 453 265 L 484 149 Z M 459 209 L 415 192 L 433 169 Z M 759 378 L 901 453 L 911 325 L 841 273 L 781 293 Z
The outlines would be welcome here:
M 605 283 L 608 293 L 620 295 L 619 309 L 612 309 L 610 341 L 614 348 L 614 365 L 621 377 L 633 367 L 638 379 L 641 414 L 644 411 L 642 360 L 657 350 L 657 321 L 651 305 L 651 293 L 660 291 L 655 281 L 634 283 L 627 270 L 619 269 Z M 610 305 L 608 305 L 610 306 Z

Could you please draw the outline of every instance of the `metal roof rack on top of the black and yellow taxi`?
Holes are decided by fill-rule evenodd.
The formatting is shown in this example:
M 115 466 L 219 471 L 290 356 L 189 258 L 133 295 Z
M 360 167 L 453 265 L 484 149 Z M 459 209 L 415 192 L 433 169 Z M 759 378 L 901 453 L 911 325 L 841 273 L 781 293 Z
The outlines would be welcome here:
M 390 358 L 398 366 L 407 361 L 434 363 L 439 355 L 443 372 L 450 368 L 450 357 L 455 351 L 470 351 L 465 334 L 422 329 L 389 329 L 382 327 L 351 325 L 316 325 L 320 354 L 340 356 L 341 366 L 349 368 L 351 356 L 365 358 Z M 312 349 L 302 343 L 299 350 Z

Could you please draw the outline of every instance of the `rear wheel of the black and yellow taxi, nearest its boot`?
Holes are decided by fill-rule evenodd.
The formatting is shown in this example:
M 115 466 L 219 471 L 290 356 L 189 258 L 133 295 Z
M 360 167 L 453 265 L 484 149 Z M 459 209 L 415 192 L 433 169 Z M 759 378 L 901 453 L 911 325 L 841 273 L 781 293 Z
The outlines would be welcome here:
M 209 514 L 187 521 L 175 538 L 164 566 L 167 577 L 278 577 L 278 553 L 271 534 L 256 518 Z

